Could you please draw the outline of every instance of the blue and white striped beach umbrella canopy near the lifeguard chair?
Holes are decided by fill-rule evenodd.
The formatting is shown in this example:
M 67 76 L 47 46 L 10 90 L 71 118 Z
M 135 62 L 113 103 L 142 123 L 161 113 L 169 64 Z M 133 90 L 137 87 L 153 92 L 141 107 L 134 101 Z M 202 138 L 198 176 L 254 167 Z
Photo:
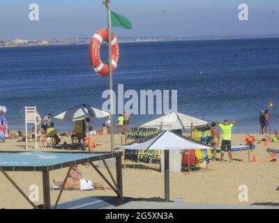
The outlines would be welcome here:
M 105 118 L 107 116 L 110 116 L 109 112 L 82 104 L 72 107 L 61 114 L 54 116 L 54 118 L 64 121 L 78 121 L 84 118 Z

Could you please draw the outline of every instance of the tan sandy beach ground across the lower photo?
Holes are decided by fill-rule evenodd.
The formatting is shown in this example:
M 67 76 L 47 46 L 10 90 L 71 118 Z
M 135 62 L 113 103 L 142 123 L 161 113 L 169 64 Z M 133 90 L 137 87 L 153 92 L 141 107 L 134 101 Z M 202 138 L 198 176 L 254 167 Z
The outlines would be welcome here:
M 92 137 L 96 142 L 103 145 L 97 146 L 96 151 L 110 151 L 110 135 L 98 135 Z M 245 134 L 233 134 L 232 144 L 244 144 Z M 255 134 L 256 139 L 262 139 L 262 135 Z M 63 137 L 63 141 L 70 142 L 70 138 Z M 115 146 L 121 144 L 121 135 L 115 135 Z M 7 139 L 0 144 L 1 151 L 26 151 L 23 142 L 17 139 Z M 40 145 L 42 146 L 42 145 Z M 269 143 L 269 148 L 278 148 L 276 143 Z M 257 144 L 252 155 L 255 155 L 257 162 L 248 163 L 248 152 L 238 151 L 233 153 L 236 160 L 227 162 L 229 157 L 225 153 L 225 161 L 211 161 L 208 169 L 193 170 L 188 174 L 181 172 L 170 174 L 170 199 L 183 199 L 187 203 L 221 203 L 221 204 L 252 204 L 252 203 L 273 203 L 278 204 L 279 192 L 276 188 L 279 185 L 279 163 L 269 162 L 269 153 L 261 142 Z M 32 149 L 29 149 L 32 151 Z M 56 149 L 40 148 L 38 151 L 57 151 Z M 61 151 L 61 150 L 59 150 Z M 220 153 L 218 153 L 220 157 Z M 98 162 L 96 163 L 98 164 Z M 146 168 L 145 168 L 146 167 Z M 96 171 L 80 165 L 84 177 L 96 180 L 105 184 Z M 142 168 L 123 168 L 123 196 L 140 198 L 147 201 L 163 201 L 164 198 L 164 174 L 159 171 L 159 164 L 145 164 Z M 50 171 L 50 181 L 52 179 L 62 180 L 66 175 L 67 168 Z M 105 169 L 100 169 L 105 176 L 109 174 Z M 115 168 L 112 168 L 114 176 Z M 30 185 L 38 185 L 40 188 L 39 201 L 43 203 L 42 178 L 40 172 L 8 172 L 8 174 L 18 183 L 25 193 L 29 194 Z M 32 208 L 31 205 L 15 190 L 13 185 L 0 174 L 0 208 Z M 239 201 L 239 186 L 248 186 L 248 201 Z M 51 201 L 54 203 L 59 191 L 51 191 Z M 70 201 L 80 197 L 95 195 L 115 196 L 113 191 L 64 191 L 61 202 Z

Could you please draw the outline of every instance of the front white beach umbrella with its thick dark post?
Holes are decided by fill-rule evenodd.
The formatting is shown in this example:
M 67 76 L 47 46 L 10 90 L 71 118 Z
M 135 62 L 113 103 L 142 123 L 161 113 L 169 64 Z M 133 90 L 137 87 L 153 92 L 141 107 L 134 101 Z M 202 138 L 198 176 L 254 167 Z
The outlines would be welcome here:
M 156 137 L 131 145 L 119 146 L 123 149 L 131 150 L 163 150 L 165 151 L 165 200 L 169 201 L 169 151 L 186 149 L 213 149 L 213 146 L 207 146 L 199 141 L 177 134 L 172 130 L 160 132 Z

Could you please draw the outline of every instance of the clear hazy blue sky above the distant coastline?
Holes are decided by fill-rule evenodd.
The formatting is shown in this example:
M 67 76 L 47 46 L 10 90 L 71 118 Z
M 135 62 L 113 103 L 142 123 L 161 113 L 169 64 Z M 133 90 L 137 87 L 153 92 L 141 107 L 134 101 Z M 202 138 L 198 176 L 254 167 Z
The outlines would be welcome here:
M 38 3 L 40 20 L 29 20 Z M 249 7 L 249 21 L 238 20 L 238 6 Z M 117 36 L 262 35 L 279 33 L 279 0 L 112 0 L 133 29 L 114 28 Z M 102 0 L 1 0 L 0 39 L 90 37 L 105 27 Z

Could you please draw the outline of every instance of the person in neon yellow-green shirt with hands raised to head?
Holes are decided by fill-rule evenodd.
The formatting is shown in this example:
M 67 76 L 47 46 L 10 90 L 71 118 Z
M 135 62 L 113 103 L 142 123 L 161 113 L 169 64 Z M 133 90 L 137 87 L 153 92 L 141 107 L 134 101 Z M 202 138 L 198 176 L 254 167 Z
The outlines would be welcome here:
M 229 160 L 232 162 L 232 128 L 234 127 L 234 121 L 225 120 L 223 123 L 218 123 L 222 130 L 222 146 L 221 146 L 221 160 L 223 160 L 225 150 L 229 154 Z

